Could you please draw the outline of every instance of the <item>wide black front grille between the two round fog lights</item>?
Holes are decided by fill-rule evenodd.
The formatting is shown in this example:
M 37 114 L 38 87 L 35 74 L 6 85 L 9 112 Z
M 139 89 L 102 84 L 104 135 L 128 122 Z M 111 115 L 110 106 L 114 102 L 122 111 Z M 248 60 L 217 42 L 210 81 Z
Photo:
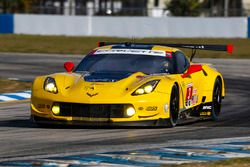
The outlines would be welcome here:
M 59 103 L 59 116 L 88 118 L 124 118 L 126 104 Z

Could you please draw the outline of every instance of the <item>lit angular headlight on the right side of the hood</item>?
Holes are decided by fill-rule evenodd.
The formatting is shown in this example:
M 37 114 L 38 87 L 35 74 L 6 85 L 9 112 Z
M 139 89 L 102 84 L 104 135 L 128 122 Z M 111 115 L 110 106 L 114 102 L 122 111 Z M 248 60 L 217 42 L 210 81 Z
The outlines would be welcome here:
M 136 96 L 136 95 L 143 95 L 143 94 L 148 94 L 154 91 L 155 87 L 157 86 L 157 84 L 159 83 L 160 80 L 153 80 L 153 81 L 149 81 L 146 84 L 142 85 L 141 87 L 139 87 L 138 89 L 136 89 L 132 95 Z

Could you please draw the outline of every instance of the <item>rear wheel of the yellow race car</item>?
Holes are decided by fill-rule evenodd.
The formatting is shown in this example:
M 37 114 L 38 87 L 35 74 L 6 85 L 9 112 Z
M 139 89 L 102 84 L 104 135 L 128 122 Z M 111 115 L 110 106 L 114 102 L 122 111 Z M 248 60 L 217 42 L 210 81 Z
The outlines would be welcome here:
M 217 120 L 221 111 L 222 84 L 217 78 L 214 83 L 211 119 Z

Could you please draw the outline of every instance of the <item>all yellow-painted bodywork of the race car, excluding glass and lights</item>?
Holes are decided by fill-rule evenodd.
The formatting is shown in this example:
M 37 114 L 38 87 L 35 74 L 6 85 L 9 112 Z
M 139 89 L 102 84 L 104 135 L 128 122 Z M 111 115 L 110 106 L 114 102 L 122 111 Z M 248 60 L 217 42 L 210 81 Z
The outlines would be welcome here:
M 110 49 L 104 46 L 96 49 Z M 168 52 L 179 51 L 176 48 L 154 46 L 152 50 L 164 50 Z M 105 121 L 102 118 L 72 118 L 55 116 L 51 108 L 55 102 L 87 103 L 87 104 L 130 104 L 136 110 L 130 118 L 111 118 L 113 122 L 158 120 L 169 118 L 169 108 L 165 111 L 164 106 L 169 105 L 172 86 L 177 84 L 180 92 L 180 110 L 186 110 L 202 103 L 202 97 L 206 96 L 205 102 L 212 101 L 214 82 L 217 77 L 222 81 L 222 96 L 225 96 L 224 81 L 221 74 L 211 68 L 209 64 L 203 64 L 203 69 L 208 74 L 204 76 L 202 71 L 182 78 L 181 74 L 171 75 L 145 75 L 137 72 L 117 82 L 86 82 L 78 73 L 56 73 L 37 77 L 32 86 L 31 115 L 54 119 L 54 120 L 85 120 Z M 144 77 L 137 77 L 144 76 Z M 44 91 L 44 81 L 47 77 L 53 77 L 56 81 L 58 93 L 53 94 Z M 203 79 L 202 79 L 203 78 Z M 160 80 L 152 93 L 132 96 L 131 94 L 141 85 L 151 80 Z M 197 101 L 190 105 L 185 104 L 187 87 L 192 83 L 194 95 Z M 94 86 L 94 89 L 93 89 Z M 97 94 L 90 97 L 89 94 Z M 147 107 L 157 107 L 155 111 L 147 111 Z

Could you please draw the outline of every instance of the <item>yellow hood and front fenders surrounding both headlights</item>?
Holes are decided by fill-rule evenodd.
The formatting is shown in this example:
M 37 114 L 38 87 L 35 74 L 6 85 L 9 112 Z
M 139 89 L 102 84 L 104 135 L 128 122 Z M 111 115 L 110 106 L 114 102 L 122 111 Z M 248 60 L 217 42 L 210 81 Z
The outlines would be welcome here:
M 106 74 L 105 74 L 106 75 Z M 155 90 L 145 95 L 145 98 L 154 93 L 168 93 L 167 85 L 171 76 L 146 75 L 142 72 L 132 74 L 117 74 L 102 77 L 99 74 L 85 75 L 82 73 L 56 73 L 47 76 L 37 77 L 33 83 L 32 97 L 50 99 L 52 101 L 75 102 L 75 103 L 119 103 L 130 99 L 135 90 L 152 80 L 159 80 Z M 108 74 L 107 74 L 108 75 Z M 128 76 L 129 75 L 129 76 Z M 126 77 L 127 76 L 127 77 Z M 44 81 L 47 77 L 54 78 L 58 93 L 50 93 L 44 90 Z M 163 79 L 169 78 L 169 79 Z M 117 81 L 115 81 L 116 79 Z M 98 82 L 98 81 L 99 82 Z M 105 81 L 105 82 L 104 82 Z M 133 96 L 140 99 L 140 96 Z

